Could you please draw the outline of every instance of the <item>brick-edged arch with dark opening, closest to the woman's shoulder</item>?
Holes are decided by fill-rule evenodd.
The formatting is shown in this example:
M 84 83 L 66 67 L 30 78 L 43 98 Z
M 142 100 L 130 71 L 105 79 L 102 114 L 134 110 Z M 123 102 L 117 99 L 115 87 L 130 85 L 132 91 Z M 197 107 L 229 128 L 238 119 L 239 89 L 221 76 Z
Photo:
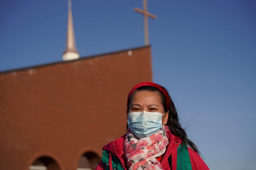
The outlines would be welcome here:
M 100 161 L 100 156 L 94 150 L 87 150 L 80 154 L 77 168 L 88 168 L 94 170 Z

